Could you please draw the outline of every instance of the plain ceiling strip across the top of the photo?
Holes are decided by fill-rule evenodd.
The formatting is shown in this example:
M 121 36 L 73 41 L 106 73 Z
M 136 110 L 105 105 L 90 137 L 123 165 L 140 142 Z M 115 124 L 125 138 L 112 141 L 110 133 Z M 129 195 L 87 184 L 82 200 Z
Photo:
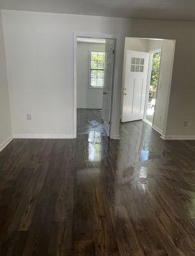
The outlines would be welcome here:
M 195 20 L 195 0 L 0 0 L 0 8 L 137 19 Z

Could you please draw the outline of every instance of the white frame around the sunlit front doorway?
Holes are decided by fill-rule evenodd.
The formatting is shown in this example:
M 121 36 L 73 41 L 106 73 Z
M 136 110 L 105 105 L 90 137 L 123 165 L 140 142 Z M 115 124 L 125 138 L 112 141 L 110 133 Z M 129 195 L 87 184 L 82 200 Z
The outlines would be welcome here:
M 147 78 L 147 86 L 146 86 L 146 100 L 145 100 L 145 107 L 144 107 L 144 118 L 143 121 L 146 122 L 148 125 L 153 126 L 153 120 L 154 120 L 154 116 L 155 116 L 155 109 L 154 109 L 154 113 L 153 113 L 153 120 L 152 120 L 152 124 L 146 119 L 147 116 L 147 109 L 148 109 L 148 99 L 149 99 L 149 90 L 150 90 L 150 78 L 151 78 L 151 73 L 152 73 L 152 60 L 153 60 L 153 54 L 155 52 L 160 52 L 160 66 L 161 66 L 161 56 L 162 56 L 162 47 L 149 51 L 149 63 L 148 63 L 148 78 Z M 160 66 L 159 66 L 159 74 L 160 74 Z M 158 76 L 158 82 L 157 82 L 157 93 L 158 93 L 158 89 L 159 89 L 159 76 Z M 157 103 L 157 93 L 156 93 L 156 102 L 155 105 Z

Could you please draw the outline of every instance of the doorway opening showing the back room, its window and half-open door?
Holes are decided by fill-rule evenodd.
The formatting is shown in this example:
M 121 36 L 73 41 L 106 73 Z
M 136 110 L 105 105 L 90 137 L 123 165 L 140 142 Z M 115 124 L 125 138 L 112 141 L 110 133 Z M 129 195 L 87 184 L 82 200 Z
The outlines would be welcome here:
M 94 141 L 110 136 L 116 40 L 107 36 L 74 38 L 74 136 Z

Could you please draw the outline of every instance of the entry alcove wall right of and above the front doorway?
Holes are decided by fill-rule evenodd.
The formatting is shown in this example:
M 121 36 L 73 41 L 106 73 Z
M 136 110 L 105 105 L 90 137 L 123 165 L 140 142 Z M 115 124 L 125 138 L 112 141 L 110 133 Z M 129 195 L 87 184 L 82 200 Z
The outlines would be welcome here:
M 162 49 L 159 72 L 159 84 L 161 85 L 158 86 L 157 89 L 153 125 L 159 129 L 159 131 L 162 131 L 164 120 L 166 118 L 167 100 L 169 100 L 169 84 L 172 74 L 172 58 L 175 49 L 175 42 L 173 40 L 148 40 L 148 52 L 156 49 Z

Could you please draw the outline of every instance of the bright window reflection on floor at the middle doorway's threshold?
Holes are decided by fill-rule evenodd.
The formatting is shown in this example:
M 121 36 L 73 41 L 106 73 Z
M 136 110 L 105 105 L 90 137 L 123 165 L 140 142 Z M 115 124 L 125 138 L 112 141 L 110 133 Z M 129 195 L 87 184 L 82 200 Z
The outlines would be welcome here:
M 100 161 L 101 159 L 101 133 L 90 131 L 88 137 L 88 159 L 89 161 Z

